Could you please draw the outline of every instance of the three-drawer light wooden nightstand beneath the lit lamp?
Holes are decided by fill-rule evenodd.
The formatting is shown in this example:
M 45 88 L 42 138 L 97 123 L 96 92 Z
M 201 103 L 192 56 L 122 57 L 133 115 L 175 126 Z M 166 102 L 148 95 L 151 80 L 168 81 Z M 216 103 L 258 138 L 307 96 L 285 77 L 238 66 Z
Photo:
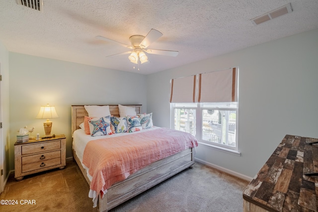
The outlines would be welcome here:
M 66 137 L 29 140 L 14 143 L 14 178 L 66 166 Z

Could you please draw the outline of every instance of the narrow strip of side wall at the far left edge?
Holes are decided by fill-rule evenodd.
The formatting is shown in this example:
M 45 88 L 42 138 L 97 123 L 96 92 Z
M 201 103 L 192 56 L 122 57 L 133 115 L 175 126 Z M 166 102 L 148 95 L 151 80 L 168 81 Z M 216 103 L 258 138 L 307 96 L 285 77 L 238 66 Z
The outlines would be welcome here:
M 1 83 L 1 105 L 2 111 L 0 111 L 1 115 L 1 122 L 2 122 L 2 129 L 0 130 L 1 133 L 1 140 L 3 145 L 0 146 L 0 157 L 3 157 L 3 176 L 4 179 L 8 175 L 9 172 L 9 53 L 4 45 L 0 42 L 0 70 L 2 75 Z M 0 142 L 1 143 L 1 142 Z M 1 179 L 2 180 L 2 179 Z M 1 192 L 1 188 L 0 188 Z

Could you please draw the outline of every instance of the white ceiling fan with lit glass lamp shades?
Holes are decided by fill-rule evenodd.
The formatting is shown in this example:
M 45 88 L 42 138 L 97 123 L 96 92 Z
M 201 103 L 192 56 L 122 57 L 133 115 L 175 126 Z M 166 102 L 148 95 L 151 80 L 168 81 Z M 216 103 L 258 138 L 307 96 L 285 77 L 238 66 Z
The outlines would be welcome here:
M 119 54 L 114 54 L 114 55 L 109 55 L 107 57 L 115 56 L 115 55 L 130 54 L 130 56 L 128 57 L 130 62 L 132 62 L 134 64 L 139 64 L 139 62 L 140 62 L 141 64 L 143 64 L 143 63 L 149 62 L 148 57 L 145 54 L 145 52 L 149 53 L 149 54 L 165 55 L 165 56 L 172 56 L 172 57 L 175 57 L 178 55 L 179 52 L 177 52 L 177 51 L 147 49 L 147 47 L 150 44 L 152 44 L 154 41 L 156 41 L 161 36 L 162 36 L 161 32 L 159 32 L 156 29 L 151 29 L 149 31 L 149 33 L 146 35 L 146 37 L 142 36 L 142 35 L 131 36 L 129 38 L 131 45 L 126 45 L 126 44 L 123 44 L 123 43 L 120 43 L 118 41 L 114 41 L 114 40 L 111 40 L 109 38 L 105 38 L 102 36 L 96 36 L 96 38 L 100 39 L 100 40 L 107 41 L 107 42 L 115 43 L 115 44 L 118 44 L 118 45 L 121 45 L 123 47 L 131 49 L 131 51 L 123 52 L 123 53 L 119 53 Z

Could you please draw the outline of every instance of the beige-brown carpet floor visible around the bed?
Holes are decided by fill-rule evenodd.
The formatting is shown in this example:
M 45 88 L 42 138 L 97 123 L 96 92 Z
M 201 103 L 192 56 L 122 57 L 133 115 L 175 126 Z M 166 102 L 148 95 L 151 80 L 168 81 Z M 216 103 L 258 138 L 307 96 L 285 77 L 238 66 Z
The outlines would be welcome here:
M 242 191 L 247 184 L 245 180 L 196 163 L 192 169 L 109 212 L 241 212 Z M 92 208 L 88 191 L 76 162 L 68 161 L 64 170 L 25 176 L 21 181 L 15 181 L 11 175 L 0 200 L 14 200 L 18 204 L 0 205 L 0 211 L 97 212 Z

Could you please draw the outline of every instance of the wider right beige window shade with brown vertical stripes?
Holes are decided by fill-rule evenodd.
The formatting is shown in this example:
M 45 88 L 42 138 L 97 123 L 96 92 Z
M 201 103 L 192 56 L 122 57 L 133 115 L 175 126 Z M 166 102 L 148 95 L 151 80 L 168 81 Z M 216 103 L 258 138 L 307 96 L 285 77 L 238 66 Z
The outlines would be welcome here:
M 237 101 L 236 68 L 199 74 L 198 102 Z

